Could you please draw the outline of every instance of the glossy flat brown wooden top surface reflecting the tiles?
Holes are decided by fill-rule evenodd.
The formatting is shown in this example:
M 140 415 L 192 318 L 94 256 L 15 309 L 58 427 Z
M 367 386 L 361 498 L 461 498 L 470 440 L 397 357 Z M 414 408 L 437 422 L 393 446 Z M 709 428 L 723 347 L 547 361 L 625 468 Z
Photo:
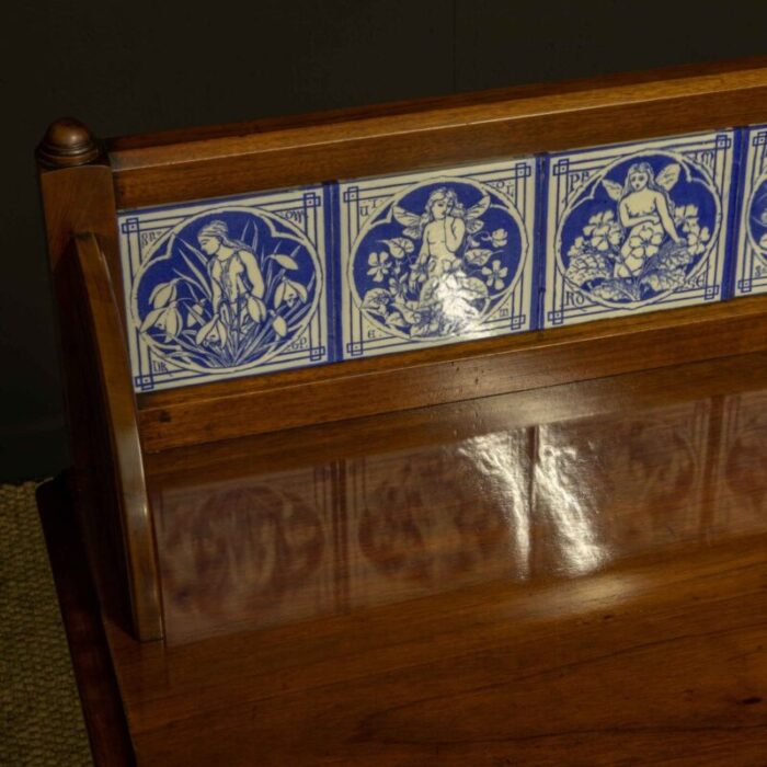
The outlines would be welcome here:
M 162 454 L 146 765 L 767 764 L 767 355 Z

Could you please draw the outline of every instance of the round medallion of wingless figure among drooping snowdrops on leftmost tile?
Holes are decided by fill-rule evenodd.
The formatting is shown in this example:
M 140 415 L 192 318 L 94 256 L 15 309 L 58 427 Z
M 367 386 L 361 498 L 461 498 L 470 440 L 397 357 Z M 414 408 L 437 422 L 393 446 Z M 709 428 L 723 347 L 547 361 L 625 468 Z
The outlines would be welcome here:
M 133 316 L 159 359 L 192 371 L 262 364 L 317 310 L 312 244 L 265 210 L 221 208 L 158 241 L 133 290 Z

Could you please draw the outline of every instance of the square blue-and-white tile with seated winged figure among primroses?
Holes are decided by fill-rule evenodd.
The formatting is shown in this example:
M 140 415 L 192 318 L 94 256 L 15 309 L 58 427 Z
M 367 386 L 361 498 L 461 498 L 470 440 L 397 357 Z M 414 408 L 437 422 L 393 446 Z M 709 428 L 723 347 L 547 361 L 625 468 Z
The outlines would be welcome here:
M 543 327 L 717 301 L 737 134 L 547 158 Z

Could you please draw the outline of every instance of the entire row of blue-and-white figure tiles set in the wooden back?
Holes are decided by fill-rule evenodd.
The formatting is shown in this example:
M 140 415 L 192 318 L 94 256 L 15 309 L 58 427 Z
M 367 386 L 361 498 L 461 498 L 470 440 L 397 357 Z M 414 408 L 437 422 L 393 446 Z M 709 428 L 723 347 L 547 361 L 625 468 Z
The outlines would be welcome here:
M 767 126 L 118 216 L 136 391 L 767 293 Z

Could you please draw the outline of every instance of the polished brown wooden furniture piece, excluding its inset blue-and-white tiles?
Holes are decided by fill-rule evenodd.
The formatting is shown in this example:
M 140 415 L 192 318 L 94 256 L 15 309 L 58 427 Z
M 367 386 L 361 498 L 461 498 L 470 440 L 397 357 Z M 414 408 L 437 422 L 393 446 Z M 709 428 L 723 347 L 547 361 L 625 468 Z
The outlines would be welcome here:
M 55 123 L 75 469 L 41 503 L 98 759 L 767 764 L 767 297 L 135 394 L 116 228 L 765 122 L 745 60 L 106 142 Z

